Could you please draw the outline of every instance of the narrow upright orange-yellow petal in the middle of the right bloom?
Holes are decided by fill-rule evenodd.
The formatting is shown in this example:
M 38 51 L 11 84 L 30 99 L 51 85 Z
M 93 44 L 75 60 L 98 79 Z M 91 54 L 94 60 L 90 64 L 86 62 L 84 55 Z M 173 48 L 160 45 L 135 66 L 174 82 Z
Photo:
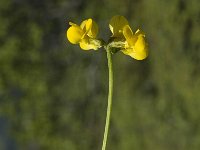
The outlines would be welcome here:
M 137 41 L 137 36 L 133 34 L 129 25 L 124 26 L 123 35 L 128 42 L 128 45 L 131 47 L 134 46 L 135 42 Z

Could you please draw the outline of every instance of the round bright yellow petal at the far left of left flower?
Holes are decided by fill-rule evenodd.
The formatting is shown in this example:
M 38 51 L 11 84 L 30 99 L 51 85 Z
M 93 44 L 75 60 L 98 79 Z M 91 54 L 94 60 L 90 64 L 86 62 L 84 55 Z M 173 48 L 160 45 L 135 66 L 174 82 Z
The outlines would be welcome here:
M 84 32 L 79 26 L 71 26 L 67 30 L 67 39 L 72 43 L 72 44 L 77 44 L 80 42 Z

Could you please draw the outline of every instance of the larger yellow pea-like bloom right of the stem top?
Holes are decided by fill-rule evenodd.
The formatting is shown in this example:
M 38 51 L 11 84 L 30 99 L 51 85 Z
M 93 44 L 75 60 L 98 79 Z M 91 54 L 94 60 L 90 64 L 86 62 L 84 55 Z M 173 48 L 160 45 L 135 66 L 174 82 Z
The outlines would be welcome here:
M 125 40 L 121 51 L 137 60 L 143 60 L 148 56 L 148 45 L 145 35 L 139 29 L 133 33 L 128 21 L 123 16 L 114 16 L 109 24 L 112 37 Z

